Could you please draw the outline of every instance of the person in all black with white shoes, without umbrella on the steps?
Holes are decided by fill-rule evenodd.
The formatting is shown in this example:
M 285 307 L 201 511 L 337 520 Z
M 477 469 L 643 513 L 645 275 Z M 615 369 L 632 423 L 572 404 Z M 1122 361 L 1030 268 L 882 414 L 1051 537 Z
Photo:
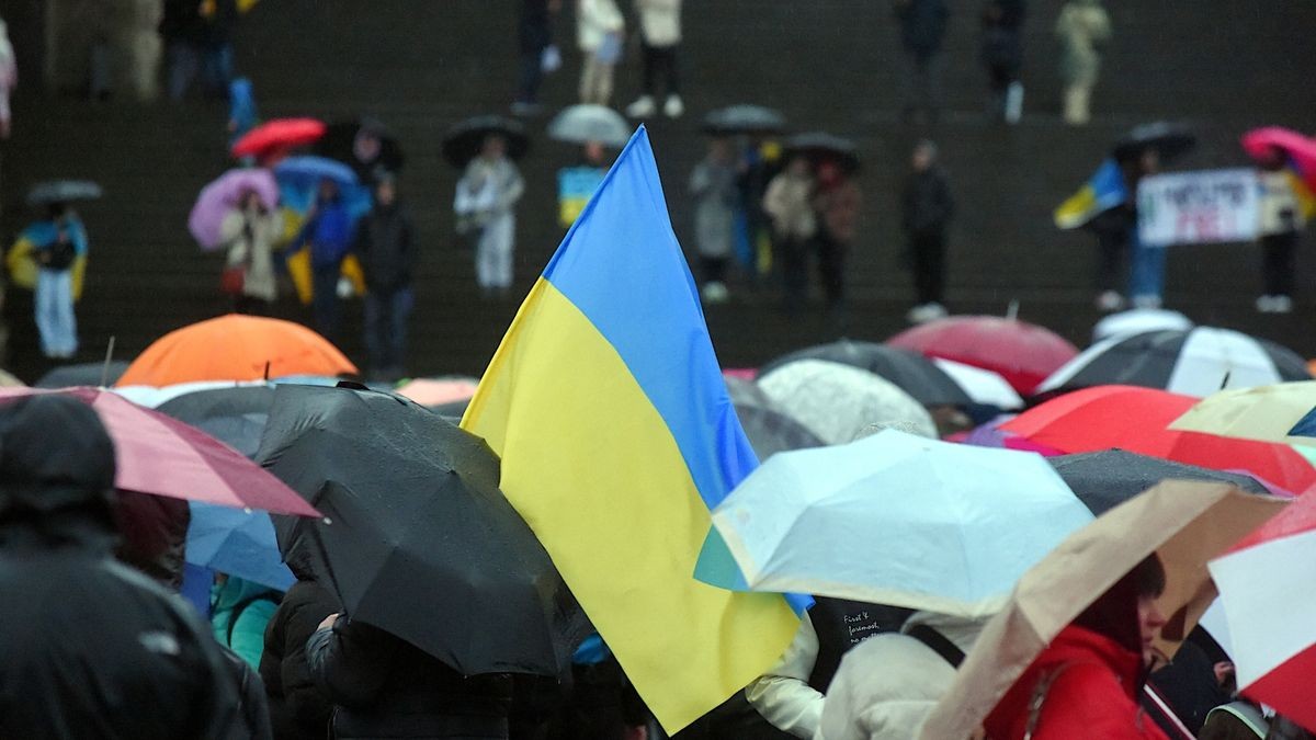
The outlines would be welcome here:
M 901 225 L 908 237 L 917 303 L 909 311 L 915 323 L 946 315 L 942 305 L 946 286 L 946 228 L 954 201 L 946 175 L 937 167 L 937 145 L 924 140 L 913 147 L 913 171 L 905 179 Z

